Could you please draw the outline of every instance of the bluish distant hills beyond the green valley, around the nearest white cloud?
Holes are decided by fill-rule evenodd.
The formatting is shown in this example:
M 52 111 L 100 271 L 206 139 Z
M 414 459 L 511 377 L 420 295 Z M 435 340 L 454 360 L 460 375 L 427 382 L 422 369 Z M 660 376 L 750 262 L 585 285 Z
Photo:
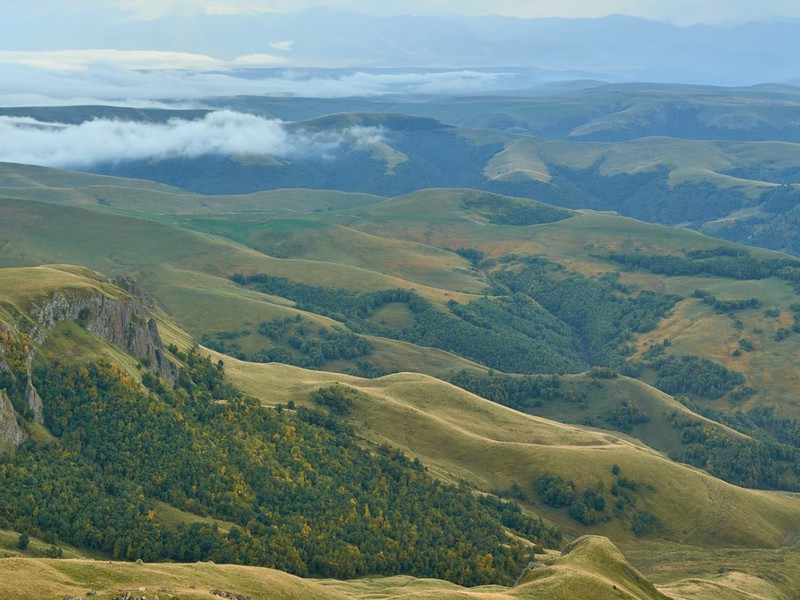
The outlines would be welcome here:
M 790 86 L 625 84 L 556 97 L 308 100 L 303 120 L 260 121 L 282 131 L 283 142 L 272 150 L 115 155 L 80 168 L 201 194 L 250 194 L 256 204 L 264 190 L 282 188 L 391 197 L 468 187 L 568 208 L 612 210 L 798 254 L 797 97 Z M 281 99 L 248 97 L 215 105 L 219 114 L 239 118 L 298 119 L 285 113 L 286 106 Z M 224 112 L 230 109 L 240 112 Z M 92 119 L 125 119 L 133 128 L 168 128 L 217 114 L 115 113 L 108 107 L 6 112 L 41 119 L 42 127 L 52 121 L 77 127 Z M 101 187 L 91 193 L 109 201 Z M 356 204 L 370 201 L 351 198 Z M 336 202 L 321 201 L 319 208 Z

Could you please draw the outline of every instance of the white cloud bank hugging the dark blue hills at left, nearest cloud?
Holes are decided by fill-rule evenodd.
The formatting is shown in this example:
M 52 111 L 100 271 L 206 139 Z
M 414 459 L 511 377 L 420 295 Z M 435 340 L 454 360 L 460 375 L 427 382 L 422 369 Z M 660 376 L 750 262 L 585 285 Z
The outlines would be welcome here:
M 332 160 L 342 146 L 364 150 L 382 139 L 375 127 L 289 130 L 281 121 L 228 110 L 166 123 L 96 119 L 71 125 L 0 116 L 0 162 L 62 168 L 214 154 Z

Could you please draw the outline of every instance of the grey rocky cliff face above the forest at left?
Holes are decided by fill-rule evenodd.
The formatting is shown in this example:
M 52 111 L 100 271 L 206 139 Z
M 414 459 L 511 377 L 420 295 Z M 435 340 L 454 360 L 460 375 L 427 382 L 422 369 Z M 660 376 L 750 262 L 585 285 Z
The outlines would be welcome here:
M 99 292 L 55 292 L 31 306 L 29 313 L 32 321 L 25 323 L 25 333 L 0 326 L 0 452 L 26 439 L 14 403 L 27 418 L 44 422 L 42 399 L 31 381 L 31 364 L 36 346 L 44 343 L 58 321 L 75 320 L 101 340 L 137 358 L 150 371 L 171 381 L 177 379 L 178 369 L 164 353 L 158 325 L 136 296 L 117 300 Z

